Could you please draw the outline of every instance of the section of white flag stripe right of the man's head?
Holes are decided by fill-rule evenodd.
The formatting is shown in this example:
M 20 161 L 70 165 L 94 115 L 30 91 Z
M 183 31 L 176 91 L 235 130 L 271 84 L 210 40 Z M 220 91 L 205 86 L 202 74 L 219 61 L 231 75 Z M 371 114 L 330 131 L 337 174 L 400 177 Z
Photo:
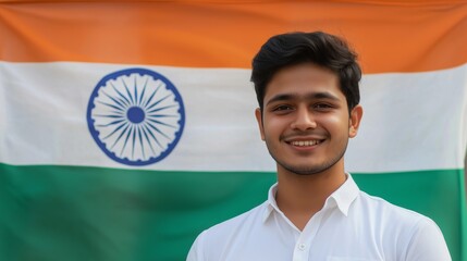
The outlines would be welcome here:
M 367 75 L 354 172 L 463 169 L 467 145 L 467 65 L 426 73 Z

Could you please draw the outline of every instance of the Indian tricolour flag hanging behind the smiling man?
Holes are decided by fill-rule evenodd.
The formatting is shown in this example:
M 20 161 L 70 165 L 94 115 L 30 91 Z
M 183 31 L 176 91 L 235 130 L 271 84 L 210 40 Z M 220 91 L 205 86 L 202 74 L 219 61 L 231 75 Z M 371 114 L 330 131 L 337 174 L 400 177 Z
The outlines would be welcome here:
M 346 169 L 467 260 L 467 4 L 0 1 L 0 260 L 184 260 L 267 197 L 250 60 L 345 37 L 364 69 Z

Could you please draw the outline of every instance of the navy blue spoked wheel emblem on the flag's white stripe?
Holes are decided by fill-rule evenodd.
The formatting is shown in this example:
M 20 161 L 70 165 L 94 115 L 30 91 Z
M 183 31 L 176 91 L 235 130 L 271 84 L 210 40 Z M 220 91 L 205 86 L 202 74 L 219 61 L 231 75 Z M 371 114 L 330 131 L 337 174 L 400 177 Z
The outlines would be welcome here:
M 105 76 L 87 107 L 89 132 L 112 160 L 127 165 L 156 163 L 175 148 L 185 109 L 175 86 L 146 69 Z

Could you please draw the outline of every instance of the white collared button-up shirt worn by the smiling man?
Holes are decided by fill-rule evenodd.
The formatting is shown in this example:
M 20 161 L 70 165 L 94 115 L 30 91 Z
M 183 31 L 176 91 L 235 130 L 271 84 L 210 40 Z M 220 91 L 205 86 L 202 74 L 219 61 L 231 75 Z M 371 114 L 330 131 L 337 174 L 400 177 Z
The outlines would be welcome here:
M 430 219 L 360 191 L 351 175 L 300 232 L 275 203 L 202 232 L 188 261 L 450 261 Z

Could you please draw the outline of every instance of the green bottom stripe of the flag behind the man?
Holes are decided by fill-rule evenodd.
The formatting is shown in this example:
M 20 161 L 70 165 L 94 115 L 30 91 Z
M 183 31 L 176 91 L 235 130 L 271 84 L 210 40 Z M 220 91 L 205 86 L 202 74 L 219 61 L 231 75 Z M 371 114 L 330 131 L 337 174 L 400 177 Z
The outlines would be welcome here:
M 467 260 L 463 170 L 354 174 L 432 217 Z M 0 164 L 0 260 L 184 260 L 196 235 L 267 198 L 273 173 Z M 464 249 L 464 250 L 463 250 Z

